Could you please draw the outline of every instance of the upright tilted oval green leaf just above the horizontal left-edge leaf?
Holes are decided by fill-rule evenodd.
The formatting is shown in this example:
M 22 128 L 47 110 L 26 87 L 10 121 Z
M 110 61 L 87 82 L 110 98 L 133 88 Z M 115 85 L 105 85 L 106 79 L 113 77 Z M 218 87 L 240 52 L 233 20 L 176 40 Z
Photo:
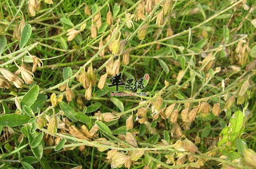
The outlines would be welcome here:
M 23 98 L 20 101 L 20 104 L 27 105 L 27 106 L 32 106 L 32 104 L 36 101 L 36 98 L 39 93 L 39 86 L 34 85 L 31 87 L 31 89 L 23 96 Z

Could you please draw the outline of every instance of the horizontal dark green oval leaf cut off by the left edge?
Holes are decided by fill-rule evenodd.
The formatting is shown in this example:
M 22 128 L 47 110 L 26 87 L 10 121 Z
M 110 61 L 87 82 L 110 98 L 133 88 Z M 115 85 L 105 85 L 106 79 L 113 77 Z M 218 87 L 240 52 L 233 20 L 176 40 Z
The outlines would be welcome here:
M 21 114 L 6 114 L 0 117 L 0 126 L 17 127 L 28 123 L 30 117 Z

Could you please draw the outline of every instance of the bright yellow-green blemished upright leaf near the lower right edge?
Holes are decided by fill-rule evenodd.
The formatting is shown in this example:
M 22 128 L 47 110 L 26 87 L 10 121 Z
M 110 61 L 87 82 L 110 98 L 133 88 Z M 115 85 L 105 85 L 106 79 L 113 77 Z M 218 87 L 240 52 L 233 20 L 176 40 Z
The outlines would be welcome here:
M 229 141 L 234 141 L 239 136 L 243 123 L 243 113 L 241 111 L 236 111 L 230 118 L 228 124 Z

